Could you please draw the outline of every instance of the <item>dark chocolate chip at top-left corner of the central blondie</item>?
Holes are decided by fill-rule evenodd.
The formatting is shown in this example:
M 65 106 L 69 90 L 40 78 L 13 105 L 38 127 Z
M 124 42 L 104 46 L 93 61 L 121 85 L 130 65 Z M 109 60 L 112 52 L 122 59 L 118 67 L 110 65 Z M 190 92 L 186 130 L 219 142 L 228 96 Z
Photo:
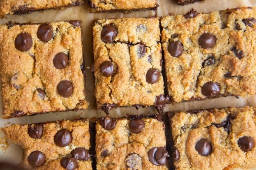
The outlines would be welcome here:
M 116 27 L 113 25 L 107 25 L 102 30 L 101 39 L 105 43 L 112 43 L 114 38 L 116 37 L 116 34 Z

